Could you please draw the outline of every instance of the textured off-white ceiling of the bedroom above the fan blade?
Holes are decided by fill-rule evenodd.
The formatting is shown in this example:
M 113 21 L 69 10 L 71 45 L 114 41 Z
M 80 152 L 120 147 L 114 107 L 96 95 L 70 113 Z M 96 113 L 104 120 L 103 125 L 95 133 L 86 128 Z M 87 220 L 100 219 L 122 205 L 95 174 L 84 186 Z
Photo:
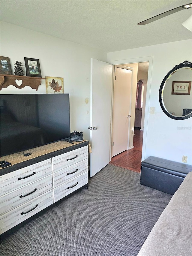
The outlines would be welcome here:
M 137 25 L 188 3 L 187 0 L 1 0 L 1 20 L 113 52 L 191 39 L 192 32 L 181 23 L 190 17 L 192 9 L 179 11 L 148 25 Z

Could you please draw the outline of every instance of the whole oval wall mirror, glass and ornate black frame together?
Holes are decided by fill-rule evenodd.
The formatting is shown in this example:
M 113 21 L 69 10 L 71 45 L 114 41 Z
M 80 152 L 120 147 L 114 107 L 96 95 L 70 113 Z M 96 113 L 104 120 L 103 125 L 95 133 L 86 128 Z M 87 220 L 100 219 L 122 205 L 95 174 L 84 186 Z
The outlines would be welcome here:
M 192 116 L 192 63 L 187 60 L 176 65 L 165 77 L 159 89 L 163 112 L 172 119 Z

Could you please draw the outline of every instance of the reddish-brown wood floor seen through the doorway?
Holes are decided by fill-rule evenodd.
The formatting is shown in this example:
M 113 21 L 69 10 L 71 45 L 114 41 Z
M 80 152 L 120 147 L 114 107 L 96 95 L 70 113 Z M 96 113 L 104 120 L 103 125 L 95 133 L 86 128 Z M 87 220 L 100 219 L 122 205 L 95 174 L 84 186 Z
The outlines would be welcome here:
M 123 167 L 135 172 L 140 173 L 141 171 L 141 154 L 143 144 L 143 131 L 135 129 L 134 131 L 133 149 L 125 150 L 124 152 L 115 155 L 110 164 Z

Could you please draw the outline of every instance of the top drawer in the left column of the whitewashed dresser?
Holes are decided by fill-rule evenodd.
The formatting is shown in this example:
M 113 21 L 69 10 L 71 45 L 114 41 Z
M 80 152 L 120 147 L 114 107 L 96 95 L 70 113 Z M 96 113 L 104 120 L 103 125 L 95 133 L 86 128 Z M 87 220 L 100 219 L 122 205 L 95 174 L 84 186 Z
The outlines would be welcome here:
M 1 196 L 52 173 L 51 159 L 0 176 Z

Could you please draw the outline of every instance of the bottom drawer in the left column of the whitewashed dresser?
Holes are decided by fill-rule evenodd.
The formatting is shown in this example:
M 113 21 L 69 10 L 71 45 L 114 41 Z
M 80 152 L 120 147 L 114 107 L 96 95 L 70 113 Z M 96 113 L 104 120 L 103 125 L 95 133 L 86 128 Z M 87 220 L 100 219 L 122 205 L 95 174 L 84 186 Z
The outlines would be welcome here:
M 52 190 L 1 215 L 1 234 L 53 203 Z

